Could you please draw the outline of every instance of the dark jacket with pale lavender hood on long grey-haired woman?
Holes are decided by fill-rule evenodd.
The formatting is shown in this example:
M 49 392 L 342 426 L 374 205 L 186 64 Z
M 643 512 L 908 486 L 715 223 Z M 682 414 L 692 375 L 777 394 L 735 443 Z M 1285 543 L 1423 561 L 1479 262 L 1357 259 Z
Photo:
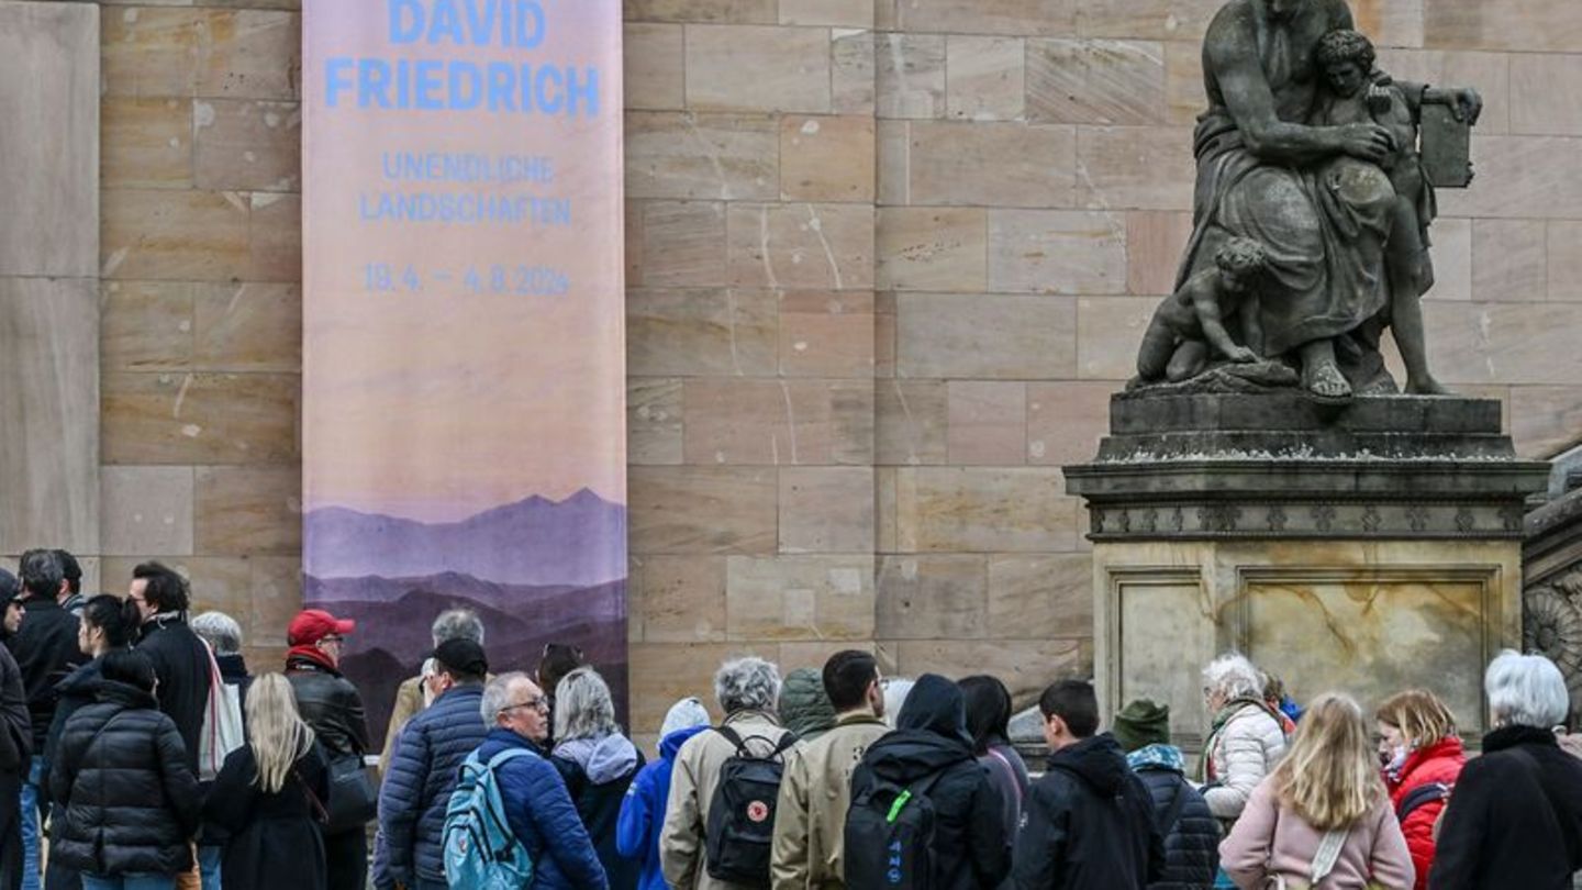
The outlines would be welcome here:
M 589 830 L 611 890 L 636 890 L 642 869 L 615 849 L 615 823 L 620 819 L 620 801 L 626 798 L 626 789 L 642 766 L 638 746 L 620 733 L 574 738 L 555 744 L 552 760 Z

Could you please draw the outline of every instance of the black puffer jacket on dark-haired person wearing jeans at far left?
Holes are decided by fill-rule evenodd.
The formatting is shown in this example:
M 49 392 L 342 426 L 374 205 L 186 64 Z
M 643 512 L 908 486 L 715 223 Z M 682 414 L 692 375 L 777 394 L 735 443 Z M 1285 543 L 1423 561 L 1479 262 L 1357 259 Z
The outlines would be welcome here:
M 153 695 L 101 681 L 60 736 L 49 773 L 55 809 L 51 860 L 92 874 L 177 874 L 202 798 L 176 724 Z

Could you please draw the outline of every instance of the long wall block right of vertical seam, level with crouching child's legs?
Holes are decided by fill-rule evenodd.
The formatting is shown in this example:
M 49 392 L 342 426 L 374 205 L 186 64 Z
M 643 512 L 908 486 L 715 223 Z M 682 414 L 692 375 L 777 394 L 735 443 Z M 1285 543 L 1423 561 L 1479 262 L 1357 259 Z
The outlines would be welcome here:
M 1076 377 L 1076 306 L 1068 298 L 906 293 L 897 298 L 903 377 Z

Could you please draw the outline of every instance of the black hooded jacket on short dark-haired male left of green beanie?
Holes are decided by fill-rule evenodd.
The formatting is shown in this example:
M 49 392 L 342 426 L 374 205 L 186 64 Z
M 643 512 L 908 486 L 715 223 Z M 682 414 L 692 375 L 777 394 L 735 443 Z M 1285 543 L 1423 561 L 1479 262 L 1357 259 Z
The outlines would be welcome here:
M 1115 736 L 1054 752 L 1016 838 L 1017 890 L 1142 890 L 1163 871 L 1153 797 Z

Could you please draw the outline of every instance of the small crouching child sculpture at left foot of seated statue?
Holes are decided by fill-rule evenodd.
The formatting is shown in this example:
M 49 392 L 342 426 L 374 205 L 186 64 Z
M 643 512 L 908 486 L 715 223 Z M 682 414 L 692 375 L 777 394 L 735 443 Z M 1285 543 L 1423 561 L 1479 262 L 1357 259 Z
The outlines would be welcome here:
M 1142 334 L 1137 350 L 1137 378 L 1142 383 L 1177 383 L 1196 377 L 1209 364 L 1209 348 L 1236 363 L 1258 361 L 1262 333 L 1251 285 L 1269 258 L 1264 245 L 1248 238 L 1232 238 L 1213 255 L 1213 268 L 1186 279 L 1180 290 L 1164 298 Z M 1240 320 L 1239 345 L 1224 320 Z

